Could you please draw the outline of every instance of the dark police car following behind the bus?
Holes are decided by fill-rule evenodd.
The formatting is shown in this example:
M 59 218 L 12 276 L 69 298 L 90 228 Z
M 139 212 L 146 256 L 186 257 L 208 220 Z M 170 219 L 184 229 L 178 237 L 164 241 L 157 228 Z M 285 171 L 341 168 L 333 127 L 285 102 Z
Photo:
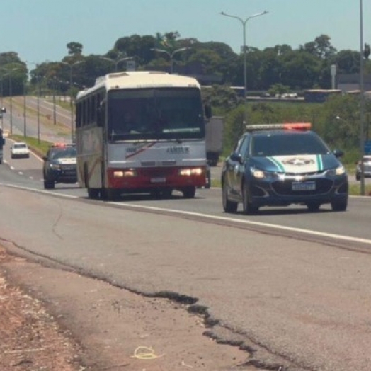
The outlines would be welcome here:
M 55 183 L 76 183 L 76 146 L 55 144 L 43 157 L 44 188 L 55 188 Z

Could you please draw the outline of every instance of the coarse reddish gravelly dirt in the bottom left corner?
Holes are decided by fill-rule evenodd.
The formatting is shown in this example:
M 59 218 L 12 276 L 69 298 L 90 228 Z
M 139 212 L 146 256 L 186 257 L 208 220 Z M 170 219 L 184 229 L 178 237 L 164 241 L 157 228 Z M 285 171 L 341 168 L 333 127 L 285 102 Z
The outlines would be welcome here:
M 1 266 L 16 258 L 0 249 Z M 80 370 L 79 346 L 42 303 L 0 275 L 0 370 Z

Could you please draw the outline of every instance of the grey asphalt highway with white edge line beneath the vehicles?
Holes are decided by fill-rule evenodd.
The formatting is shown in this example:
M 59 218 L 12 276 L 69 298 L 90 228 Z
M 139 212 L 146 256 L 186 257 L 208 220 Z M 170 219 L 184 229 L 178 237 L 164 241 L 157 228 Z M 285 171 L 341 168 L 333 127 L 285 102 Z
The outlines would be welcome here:
M 37 256 L 207 313 L 210 332 L 273 370 L 370 370 L 371 198 L 346 212 L 306 207 L 222 212 L 194 200 L 89 200 L 42 189 L 37 158 L 0 166 L 1 238 Z M 275 367 L 275 368 L 273 368 Z

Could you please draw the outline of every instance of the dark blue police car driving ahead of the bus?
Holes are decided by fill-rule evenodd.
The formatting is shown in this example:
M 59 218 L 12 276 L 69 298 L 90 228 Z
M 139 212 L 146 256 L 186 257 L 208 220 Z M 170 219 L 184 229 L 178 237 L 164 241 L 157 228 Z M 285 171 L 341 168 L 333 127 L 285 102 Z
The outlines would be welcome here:
M 263 206 L 305 205 L 309 211 L 348 205 L 348 174 L 308 122 L 249 125 L 222 169 L 225 212 L 245 214 Z

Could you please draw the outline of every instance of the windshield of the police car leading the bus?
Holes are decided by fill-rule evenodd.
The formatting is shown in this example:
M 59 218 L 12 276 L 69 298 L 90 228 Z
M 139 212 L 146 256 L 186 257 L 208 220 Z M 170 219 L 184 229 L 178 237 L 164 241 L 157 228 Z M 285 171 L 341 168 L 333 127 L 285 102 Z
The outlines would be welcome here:
M 266 133 L 252 139 L 252 156 L 328 154 L 329 147 L 313 132 Z

